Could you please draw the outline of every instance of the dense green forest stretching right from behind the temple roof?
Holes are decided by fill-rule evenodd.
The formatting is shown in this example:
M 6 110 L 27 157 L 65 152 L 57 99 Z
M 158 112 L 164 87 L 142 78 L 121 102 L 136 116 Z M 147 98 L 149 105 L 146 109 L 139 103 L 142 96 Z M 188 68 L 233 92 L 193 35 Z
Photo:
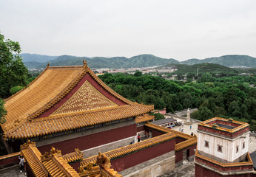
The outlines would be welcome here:
M 155 109 L 166 108 L 167 112 L 198 108 L 193 119 L 232 117 L 249 122 L 251 131 L 256 131 L 255 76 L 213 77 L 205 73 L 196 82 L 178 82 L 135 72 L 104 74 L 100 78 L 134 102 L 153 104 Z

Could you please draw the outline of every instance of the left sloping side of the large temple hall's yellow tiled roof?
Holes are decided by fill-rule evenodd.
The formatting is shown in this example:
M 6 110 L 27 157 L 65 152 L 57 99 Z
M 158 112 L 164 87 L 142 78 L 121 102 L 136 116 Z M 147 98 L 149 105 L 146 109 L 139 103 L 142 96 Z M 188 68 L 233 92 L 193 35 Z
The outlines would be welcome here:
M 1 125 L 8 131 L 16 124 L 36 114 L 44 106 L 56 99 L 70 87 L 74 79 L 81 75 L 83 67 L 47 67 L 26 89 L 5 100 L 6 122 Z

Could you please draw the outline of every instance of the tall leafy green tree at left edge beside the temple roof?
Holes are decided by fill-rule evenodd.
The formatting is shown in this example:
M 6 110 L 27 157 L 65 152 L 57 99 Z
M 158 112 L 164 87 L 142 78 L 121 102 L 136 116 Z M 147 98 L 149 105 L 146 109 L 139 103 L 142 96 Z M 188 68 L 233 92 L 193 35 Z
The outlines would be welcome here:
M 4 40 L 0 33 L 0 97 L 9 97 L 13 86 L 27 85 L 27 68 L 19 55 L 18 42 Z

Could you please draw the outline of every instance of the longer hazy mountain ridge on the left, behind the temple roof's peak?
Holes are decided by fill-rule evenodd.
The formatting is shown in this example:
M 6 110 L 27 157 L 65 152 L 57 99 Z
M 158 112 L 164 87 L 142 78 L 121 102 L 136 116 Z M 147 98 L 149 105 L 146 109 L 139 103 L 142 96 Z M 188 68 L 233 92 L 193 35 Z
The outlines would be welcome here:
M 63 55 L 55 58 L 54 60 L 45 61 L 44 63 L 33 63 L 31 61 L 24 61 L 25 66 L 30 68 L 41 69 L 50 63 L 50 66 L 75 66 L 81 65 L 83 60 L 87 60 L 90 68 L 136 68 L 136 67 L 148 67 L 148 66 L 161 66 L 168 63 L 178 63 L 178 60 L 158 58 L 154 55 L 138 55 L 132 58 L 115 57 L 115 58 L 86 58 L 86 57 L 75 57 L 70 55 Z M 35 65 L 33 65 L 35 64 Z

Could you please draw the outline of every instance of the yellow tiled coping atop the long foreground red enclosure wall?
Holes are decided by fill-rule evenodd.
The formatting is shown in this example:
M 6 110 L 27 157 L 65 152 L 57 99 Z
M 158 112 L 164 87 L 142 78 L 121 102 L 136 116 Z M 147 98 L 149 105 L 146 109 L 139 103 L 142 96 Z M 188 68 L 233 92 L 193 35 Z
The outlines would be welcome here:
M 153 145 L 157 145 L 161 142 L 166 142 L 171 139 L 175 139 L 175 137 L 177 137 L 177 135 L 175 135 L 175 133 L 170 132 L 170 133 L 163 134 L 161 136 L 156 136 L 151 139 L 146 139 L 142 142 L 138 142 L 138 143 L 135 143 L 132 145 L 120 147 L 115 150 L 110 150 L 104 154 L 106 154 L 106 156 L 109 157 L 111 160 L 111 159 L 115 159 L 115 158 L 118 158 L 121 156 L 128 155 L 129 153 L 135 153 L 138 150 L 143 150 L 144 148 L 151 147 Z M 86 167 L 87 164 L 89 164 L 90 162 L 95 163 L 96 158 L 97 158 L 97 156 L 92 156 L 90 158 L 84 159 L 83 162 L 81 162 L 81 167 Z

